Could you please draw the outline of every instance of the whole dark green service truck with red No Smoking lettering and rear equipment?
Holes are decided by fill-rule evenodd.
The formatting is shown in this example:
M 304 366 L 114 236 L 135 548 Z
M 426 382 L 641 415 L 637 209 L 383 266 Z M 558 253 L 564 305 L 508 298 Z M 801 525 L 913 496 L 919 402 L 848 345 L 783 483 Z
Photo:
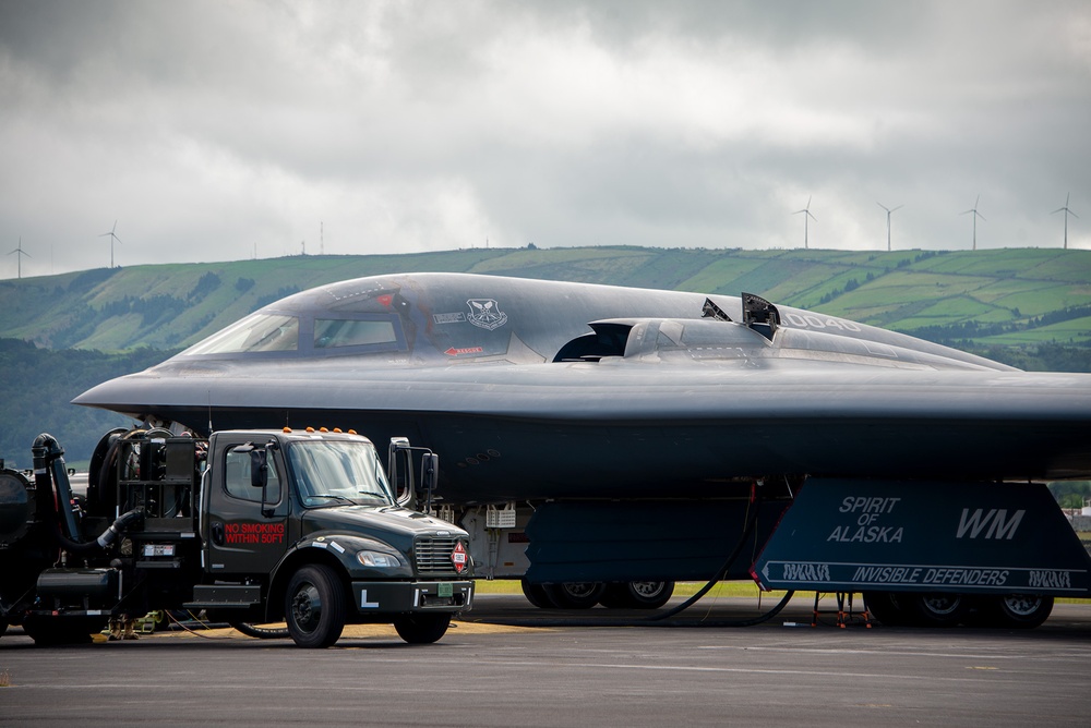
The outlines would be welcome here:
M 0 634 L 77 642 L 153 610 L 204 610 L 302 647 L 333 645 L 346 623 L 431 643 L 472 605 L 467 533 L 405 507 L 431 503 L 437 462 L 404 438 L 387 478 L 351 432 L 117 429 L 84 498 L 63 452 L 43 434 L 33 480 L 0 463 Z

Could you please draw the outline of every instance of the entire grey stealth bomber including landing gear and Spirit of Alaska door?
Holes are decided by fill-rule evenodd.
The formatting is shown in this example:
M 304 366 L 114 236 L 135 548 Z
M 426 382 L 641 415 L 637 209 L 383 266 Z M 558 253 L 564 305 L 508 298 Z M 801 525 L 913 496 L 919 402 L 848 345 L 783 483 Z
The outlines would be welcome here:
M 752 577 L 866 592 L 888 621 L 1032 626 L 1054 596 L 1091 595 L 1042 485 L 1091 476 L 1091 375 L 748 293 L 361 278 L 75 402 L 201 434 L 425 444 L 431 505 L 477 534 L 478 575 L 523 578 L 541 606 Z

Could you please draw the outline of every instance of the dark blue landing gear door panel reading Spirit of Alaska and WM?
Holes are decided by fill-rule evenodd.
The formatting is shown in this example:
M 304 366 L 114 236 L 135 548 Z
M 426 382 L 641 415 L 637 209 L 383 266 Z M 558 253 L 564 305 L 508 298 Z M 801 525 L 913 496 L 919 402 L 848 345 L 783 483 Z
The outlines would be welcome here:
M 810 480 L 752 569 L 763 589 L 1091 596 L 1042 484 Z

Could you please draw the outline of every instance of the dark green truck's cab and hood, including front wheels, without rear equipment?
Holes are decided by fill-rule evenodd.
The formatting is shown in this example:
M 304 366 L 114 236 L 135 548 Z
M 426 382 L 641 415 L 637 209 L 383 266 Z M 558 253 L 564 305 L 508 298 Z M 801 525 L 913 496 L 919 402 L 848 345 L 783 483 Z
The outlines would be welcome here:
M 399 506 L 367 438 L 232 430 L 212 436 L 207 458 L 207 583 L 194 604 L 249 603 L 254 620 L 283 617 L 292 639 L 317 643 L 339 634 L 332 603 L 345 604 L 344 621 L 393 621 L 409 642 L 439 639 L 471 605 L 467 533 Z

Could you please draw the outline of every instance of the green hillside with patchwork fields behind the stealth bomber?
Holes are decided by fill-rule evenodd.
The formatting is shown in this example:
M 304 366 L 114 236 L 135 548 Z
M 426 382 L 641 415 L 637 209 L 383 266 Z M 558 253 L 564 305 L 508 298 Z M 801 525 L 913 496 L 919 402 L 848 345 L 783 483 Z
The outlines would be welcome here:
M 0 458 L 50 432 L 89 457 L 117 415 L 68 402 L 289 293 L 388 272 L 477 272 L 738 295 L 844 316 L 1026 369 L 1091 372 L 1091 252 L 465 250 L 97 269 L 0 281 Z M 79 351 L 68 351 L 75 349 Z

